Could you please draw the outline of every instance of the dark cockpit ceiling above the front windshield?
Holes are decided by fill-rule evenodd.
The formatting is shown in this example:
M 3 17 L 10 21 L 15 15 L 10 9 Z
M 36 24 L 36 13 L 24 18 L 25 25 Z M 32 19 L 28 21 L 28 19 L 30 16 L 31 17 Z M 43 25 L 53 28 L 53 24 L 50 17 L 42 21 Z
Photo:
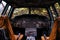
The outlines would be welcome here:
M 57 0 L 4 0 L 6 3 L 13 7 L 45 7 L 52 5 Z

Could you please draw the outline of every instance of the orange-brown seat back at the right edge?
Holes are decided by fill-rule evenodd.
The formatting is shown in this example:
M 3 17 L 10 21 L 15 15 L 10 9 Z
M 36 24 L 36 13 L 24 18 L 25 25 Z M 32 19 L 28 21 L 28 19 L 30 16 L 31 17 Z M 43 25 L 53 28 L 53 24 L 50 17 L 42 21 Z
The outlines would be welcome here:
M 60 40 L 60 18 L 55 20 L 49 37 L 49 40 Z

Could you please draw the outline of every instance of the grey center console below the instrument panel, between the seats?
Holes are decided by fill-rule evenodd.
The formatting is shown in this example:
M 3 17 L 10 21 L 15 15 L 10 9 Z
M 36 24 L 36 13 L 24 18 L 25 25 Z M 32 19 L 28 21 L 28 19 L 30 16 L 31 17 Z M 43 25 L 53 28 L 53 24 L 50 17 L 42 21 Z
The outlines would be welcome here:
M 37 29 L 36 28 L 26 28 L 25 36 L 26 36 L 26 40 L 36 40 Z

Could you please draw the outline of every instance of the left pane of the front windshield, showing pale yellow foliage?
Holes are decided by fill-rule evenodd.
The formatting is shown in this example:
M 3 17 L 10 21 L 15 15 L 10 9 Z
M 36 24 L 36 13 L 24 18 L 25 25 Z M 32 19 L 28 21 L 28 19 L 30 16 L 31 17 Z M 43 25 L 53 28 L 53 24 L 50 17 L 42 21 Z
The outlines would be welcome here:
M 13 16 L 12 18 L 14 18 L 15 16 L 19 16 L 19 15 L 23 15 L 23 14 L 28 14 L 29 13 L 29 9 L 28 8 L 16 8 L 13 12 Z

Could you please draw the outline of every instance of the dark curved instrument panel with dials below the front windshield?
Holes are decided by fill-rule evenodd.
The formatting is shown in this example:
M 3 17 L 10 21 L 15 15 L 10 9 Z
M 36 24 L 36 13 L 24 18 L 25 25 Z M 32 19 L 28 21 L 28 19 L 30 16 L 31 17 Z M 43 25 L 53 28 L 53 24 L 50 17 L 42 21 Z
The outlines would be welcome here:
M 49 21 L 45 16 L 22 15 L 15 17 L 12 24 L 19 28 L 43 28 L 49 26 Z

